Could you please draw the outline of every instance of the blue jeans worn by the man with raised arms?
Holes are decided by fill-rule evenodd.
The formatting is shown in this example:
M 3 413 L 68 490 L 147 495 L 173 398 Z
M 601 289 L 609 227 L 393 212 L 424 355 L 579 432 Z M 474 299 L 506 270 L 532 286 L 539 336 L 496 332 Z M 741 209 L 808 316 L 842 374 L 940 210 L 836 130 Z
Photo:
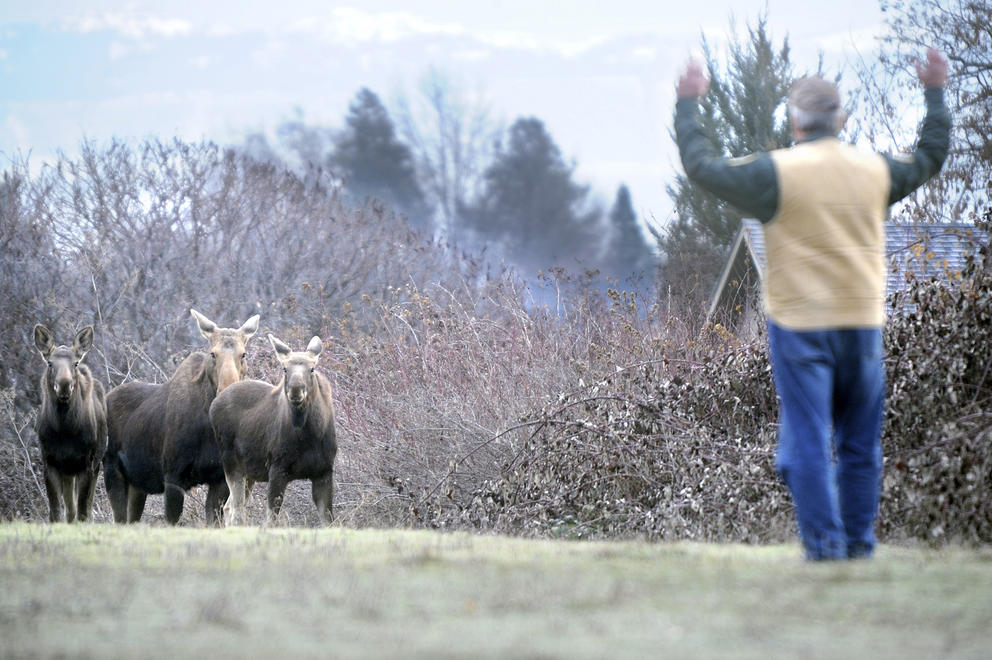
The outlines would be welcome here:
M 793 331 L 768 323 L 779 397 L 775 467 L 806 557 L 870 557 L 882 477 L 881 329 Z

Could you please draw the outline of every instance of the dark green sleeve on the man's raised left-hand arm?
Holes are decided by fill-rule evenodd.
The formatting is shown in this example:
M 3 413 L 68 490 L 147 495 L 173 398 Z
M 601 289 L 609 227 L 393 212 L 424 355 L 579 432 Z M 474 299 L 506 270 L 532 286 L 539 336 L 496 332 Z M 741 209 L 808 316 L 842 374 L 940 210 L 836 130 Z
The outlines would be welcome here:
M 778 209 L 778 178 L 767 153 L 722 158 L 703 134 L 696 99 L 679 99 L 675 106 L 675 139 L 686 176 L 745 214 L 768 222 Z

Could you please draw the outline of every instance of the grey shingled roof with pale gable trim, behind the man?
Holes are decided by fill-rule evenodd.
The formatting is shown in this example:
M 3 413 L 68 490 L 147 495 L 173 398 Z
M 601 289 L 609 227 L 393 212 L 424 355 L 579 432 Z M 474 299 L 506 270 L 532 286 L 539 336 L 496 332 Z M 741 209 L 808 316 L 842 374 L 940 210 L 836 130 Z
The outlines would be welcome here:
M 913 277 L 946 278 L 961 272 L 974 239 L 973 225 L 885 225 L 888 260 L 887 294 L 902 291 Z M 742 220 L 727 262 L 710 299 L 712 316 L 728 299 L 741 297 L 741 289 L 765 276 L 765 234 L 757 220 Z

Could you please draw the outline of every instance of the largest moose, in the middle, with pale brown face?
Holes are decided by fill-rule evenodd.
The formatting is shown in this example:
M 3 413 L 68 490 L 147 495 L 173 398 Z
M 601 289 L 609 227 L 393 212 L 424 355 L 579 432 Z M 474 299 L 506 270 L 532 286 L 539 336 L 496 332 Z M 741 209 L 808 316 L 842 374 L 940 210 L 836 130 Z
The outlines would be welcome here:
M 220 521 L 228 489 L 208 412 L 214 397 L 245 374 L 245 344 L 258 316 L 237 330 L 190 313 L 210 344 L 192 353 L 164 383 L 132 381 L 107 394 L 109 443 L 104 482 L 114 520 L 137 522 L 149 494 L 165 493 L 165 518 L 176 524 L 186 491 L 207 484 L 207 524 Z

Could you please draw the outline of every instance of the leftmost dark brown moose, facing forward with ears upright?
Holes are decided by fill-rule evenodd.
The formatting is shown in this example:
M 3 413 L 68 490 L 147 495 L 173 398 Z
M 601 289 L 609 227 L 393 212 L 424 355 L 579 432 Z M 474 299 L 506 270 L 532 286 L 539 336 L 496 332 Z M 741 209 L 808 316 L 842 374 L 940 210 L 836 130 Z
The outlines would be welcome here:
M 41 376 L 41 409 L 36 429 L 45 466 L 48 519 L 88 520 L 100 459 L 107 448 L 107 408 L 103 383 L 82 363 L 93 346 L 93 326 L 86 326 L 68 346 L 56 346 L 55 335 L 40 323 L 34 345 L 48 364 Z

